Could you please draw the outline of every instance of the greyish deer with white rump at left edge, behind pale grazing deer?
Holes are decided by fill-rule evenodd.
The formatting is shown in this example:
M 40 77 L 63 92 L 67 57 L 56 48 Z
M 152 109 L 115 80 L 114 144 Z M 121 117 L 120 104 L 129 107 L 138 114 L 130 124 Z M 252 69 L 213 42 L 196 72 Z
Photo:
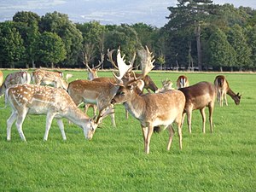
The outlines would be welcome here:
M 5 90 L 15 84 L 30 84 L 31 76 L 26 71 L 9 73 L 0 87 L 0 96 L 3 96 Z

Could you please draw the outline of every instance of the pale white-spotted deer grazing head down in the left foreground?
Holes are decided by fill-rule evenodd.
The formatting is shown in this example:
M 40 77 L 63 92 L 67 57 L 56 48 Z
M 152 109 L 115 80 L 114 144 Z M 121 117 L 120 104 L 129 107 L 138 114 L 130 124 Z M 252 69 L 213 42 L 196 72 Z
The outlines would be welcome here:
M 63 140 L 67 140 L 62 118 L 71 120 L 84 131 L 84 137 L 91 139 L 99 120 L 110 111 L 102 113 L 96 121 L 82 113 L 66 90 L 36 84 L 17 84 L 6 90 L 6 102 L 10 103 L 12 113 L 7 120 L 7 140 L 11 138 L 11 127 L 16 120 L 16 127 L 23 141 L 26 137 L 22 131 L 22 124 L 26 114 L 46 114 L 46 128 L 44 141 L 47 141 L 52 120 L 57 119 Z

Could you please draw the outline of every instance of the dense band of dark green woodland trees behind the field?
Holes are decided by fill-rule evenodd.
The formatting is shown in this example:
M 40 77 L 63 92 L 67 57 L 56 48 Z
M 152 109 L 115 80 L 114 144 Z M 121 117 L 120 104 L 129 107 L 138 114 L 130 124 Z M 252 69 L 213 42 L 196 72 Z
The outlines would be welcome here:
M 58 12 L 39 16 L 20 11 L 0 23 L 0 67 L 102 68 L 108 49 L 121 46 L 126 61 L 144 45 L 155 69 L 247 71 L 256 69 L 256 10 L 210 0 L 178 0 L 166 25 L 73 23 Z M 139 61 L 136 61 L 139 62 Z

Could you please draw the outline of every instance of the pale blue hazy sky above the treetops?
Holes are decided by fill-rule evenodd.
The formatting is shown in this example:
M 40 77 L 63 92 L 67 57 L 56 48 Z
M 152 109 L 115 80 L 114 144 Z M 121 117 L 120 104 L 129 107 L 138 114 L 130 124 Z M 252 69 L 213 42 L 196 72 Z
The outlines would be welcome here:
M 213 3 L 256 9 L 256 0 L 213 0 Z M 176 4 L 176 0 L 0 0 L 0 21 L 12 20 L 18 11 L 32 11 L 40 16 L 58 11 L 73 22 L 97 20 L 102 25 L 143 22 L 161 27 L 168 22 L 167 7 Z

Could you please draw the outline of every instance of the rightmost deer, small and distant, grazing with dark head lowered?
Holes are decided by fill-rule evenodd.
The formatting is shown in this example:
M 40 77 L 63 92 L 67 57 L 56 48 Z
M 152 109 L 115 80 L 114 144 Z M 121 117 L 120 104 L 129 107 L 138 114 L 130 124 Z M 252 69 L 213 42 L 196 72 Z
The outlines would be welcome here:
M 221 107 L 223 107 L 223 99 L 225 100 L 226 106 L 228 106 L 227 94 L 231 96 L 236 105 L 239 105 L 241 95 L 234 93 L 233 90 L 230 89 L 230 85 L 224 75 L 218 75 L 214 80 L 214 84 L 217 90 L 218 102 Z

